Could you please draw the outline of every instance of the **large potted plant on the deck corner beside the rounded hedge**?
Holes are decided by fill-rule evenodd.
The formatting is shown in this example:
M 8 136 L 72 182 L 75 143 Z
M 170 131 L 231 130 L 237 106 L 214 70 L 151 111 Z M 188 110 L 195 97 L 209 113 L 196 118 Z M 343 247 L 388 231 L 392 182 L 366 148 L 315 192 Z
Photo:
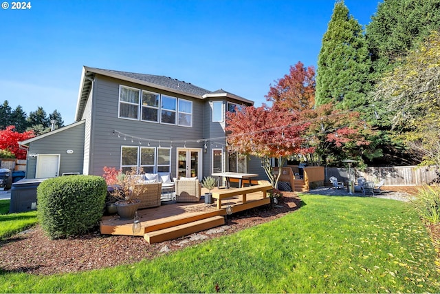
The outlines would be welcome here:
M 113 189 L 109 189 L 109 193 L 113 198 L 118 199 L 115 202 L 115 206 L 118 210 L 120 220 L 132 220 L 140 204 L 140 200 L 133 196 L 134 187 L 139 182 L 136 168 L 133 167 L 131 171 L 126 174 L 122 171 L 118 171 L 118 174 L 115 175 L 114 182 L 115 185 L 113 185 Z M 140 187 L 142 187 L 142 185 Z

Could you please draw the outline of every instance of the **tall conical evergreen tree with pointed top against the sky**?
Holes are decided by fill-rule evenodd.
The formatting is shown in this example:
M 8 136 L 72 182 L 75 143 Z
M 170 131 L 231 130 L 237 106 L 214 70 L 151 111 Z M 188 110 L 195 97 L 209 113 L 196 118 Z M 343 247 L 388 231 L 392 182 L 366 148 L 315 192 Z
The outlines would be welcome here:
M 316 106 L 331 101 L 340 109 L 366 104 L 371 58 L 362 25 L 338 1 L 322 38 L 316 75 Z

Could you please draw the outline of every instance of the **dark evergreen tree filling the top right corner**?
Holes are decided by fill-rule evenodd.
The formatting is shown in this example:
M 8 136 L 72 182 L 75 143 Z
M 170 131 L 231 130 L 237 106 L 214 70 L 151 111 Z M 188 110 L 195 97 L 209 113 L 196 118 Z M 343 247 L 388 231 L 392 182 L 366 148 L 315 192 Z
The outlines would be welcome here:
M 408 50 L 440 29 L 440 0 L 384 0 L 366 25 L 374 76 L 391 70 Z

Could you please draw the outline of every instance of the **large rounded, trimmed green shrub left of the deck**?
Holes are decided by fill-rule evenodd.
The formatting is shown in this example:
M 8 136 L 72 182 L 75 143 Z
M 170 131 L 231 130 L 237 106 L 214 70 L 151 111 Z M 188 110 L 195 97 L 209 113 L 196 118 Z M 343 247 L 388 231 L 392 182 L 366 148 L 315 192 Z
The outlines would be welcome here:
M 102 217 L 107 184 L 100 176 L 62 176 L 41 182 L 37 212 L 50 238 L 78 235 L 95 227 Z

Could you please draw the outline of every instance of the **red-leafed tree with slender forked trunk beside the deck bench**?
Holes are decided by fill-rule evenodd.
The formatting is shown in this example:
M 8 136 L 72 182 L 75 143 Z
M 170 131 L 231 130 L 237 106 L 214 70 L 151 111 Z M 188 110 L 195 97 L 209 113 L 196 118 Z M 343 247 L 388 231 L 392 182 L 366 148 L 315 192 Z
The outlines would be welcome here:
M 283 166 L 287 157 L 294 154 L 309 154 L 314 147 L 307 146 L 303 136 L 310 125 L 304 123 L 301 114 L 274 107 L 243 107 L 227 114 L 228 151 L 239 152 L 261 158 L 263 168 L 273 187 L 274 178 L 271 158 L 281 158 Z

